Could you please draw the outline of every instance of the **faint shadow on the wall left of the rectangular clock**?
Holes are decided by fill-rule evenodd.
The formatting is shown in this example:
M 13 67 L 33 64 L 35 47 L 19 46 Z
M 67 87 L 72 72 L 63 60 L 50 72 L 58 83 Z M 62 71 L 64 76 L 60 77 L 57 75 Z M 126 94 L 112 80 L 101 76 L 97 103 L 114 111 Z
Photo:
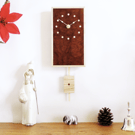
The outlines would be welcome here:
M 43 67 L 51 67 L 51 12 L 41 13 L 41 59 Z

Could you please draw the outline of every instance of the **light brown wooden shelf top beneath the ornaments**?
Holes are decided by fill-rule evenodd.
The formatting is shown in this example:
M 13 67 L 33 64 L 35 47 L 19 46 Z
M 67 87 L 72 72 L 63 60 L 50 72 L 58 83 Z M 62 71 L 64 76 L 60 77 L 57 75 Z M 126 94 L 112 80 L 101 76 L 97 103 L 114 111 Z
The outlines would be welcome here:
M 0 135 L 135 135 L 135 132 L 121 130 L 122 123 L 111 126 L 100 126 L 97 123 L 79 123 L 65 125 L 64 123 L 41 123 L 33 127 L 22 124 L 0 124 Z

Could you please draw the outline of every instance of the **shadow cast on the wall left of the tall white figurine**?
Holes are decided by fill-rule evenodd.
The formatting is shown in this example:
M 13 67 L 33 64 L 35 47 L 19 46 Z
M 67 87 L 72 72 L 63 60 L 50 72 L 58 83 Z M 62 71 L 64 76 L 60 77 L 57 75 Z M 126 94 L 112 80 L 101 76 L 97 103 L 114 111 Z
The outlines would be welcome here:
M 22 106 L 19 101 L 19 92 L 23 85 L 23 73 L 26 71 L 26 66 L 21 66 L 15 74 L 17 79 L 16 84 L 7 98 L 7 103 L 11 104 L 11 110 L 13 114 L 13 123 L 22 122 Z

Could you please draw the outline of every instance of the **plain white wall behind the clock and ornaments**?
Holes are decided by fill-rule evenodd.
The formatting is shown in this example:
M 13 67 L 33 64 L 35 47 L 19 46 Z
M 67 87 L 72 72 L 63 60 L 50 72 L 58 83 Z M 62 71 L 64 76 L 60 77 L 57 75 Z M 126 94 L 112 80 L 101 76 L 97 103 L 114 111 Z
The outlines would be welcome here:
M 5 0 L 0 1 L 0 5 Z M 66 68 L 51 67 L 51 7 L 85 6 L 86 67 L 71 68 L 75 93 L 66 101 Z M 21 122 L 18 100 L 26 64 L 35 64 L 40 115 L 38 122 L 62 122 L 75 114 L 79 122 L 96 122 L 100 108 L 109 107 L 123 122 L 130 101 L 135 118 L 134 0 L 11 0 L 20 35 L 0 44 L 0 122 Z

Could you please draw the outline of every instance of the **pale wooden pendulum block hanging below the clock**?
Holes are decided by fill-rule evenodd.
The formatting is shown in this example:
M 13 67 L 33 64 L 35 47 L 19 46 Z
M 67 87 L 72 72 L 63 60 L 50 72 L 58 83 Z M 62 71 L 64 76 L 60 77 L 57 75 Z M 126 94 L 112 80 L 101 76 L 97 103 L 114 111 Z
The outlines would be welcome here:
M 74 76 L 64 77 L 64 92 L 74 93 Z

